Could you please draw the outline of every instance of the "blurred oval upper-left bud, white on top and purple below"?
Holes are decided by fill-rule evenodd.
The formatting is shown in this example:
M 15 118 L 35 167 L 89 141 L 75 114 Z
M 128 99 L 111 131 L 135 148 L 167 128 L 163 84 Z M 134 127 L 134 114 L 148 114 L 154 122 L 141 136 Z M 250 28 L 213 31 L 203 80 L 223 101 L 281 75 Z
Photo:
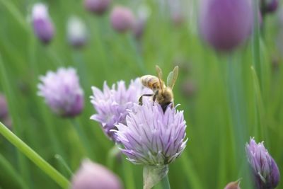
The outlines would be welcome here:
M 37 38 L 45 44 L 50 42 L 54 35 L 54 27 L 45 4 L 38 3 L 33 6 L 32 21 Z

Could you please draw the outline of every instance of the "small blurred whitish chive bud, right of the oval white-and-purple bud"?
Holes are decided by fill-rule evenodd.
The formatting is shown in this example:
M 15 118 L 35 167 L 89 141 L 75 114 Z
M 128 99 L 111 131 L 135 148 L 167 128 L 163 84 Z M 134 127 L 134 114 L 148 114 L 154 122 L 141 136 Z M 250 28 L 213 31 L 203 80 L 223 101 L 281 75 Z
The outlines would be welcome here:
M 67 38 L 70 45 L 79 48 L 86 44 L 86 25 L 76 16 L 71 16 L 67 23 Z

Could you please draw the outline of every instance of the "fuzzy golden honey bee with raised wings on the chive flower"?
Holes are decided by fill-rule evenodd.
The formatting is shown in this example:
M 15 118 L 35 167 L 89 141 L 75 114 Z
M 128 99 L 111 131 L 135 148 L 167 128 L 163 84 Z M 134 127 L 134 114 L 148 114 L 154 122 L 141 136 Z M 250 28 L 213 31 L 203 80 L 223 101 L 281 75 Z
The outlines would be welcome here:
M 142 105 L 142 98 L 144 96 L 152 96 L 153 101 L 158 102 L 161 105 L 163 112 L 165 112 L 168 105 L 173 105 L 173 87 L 175 81 L 178 77 L 179 68 L 175 67 L 167 76 L 167 86 L 162 80 L 162 71 L 161 68 L 156 65 L 157 76 L 145 75 L 141 76 L 141 84 L 147 88 L 150 88 L 154 93 L 153 94 L 143 94 L 139 98 L 139 105 Z

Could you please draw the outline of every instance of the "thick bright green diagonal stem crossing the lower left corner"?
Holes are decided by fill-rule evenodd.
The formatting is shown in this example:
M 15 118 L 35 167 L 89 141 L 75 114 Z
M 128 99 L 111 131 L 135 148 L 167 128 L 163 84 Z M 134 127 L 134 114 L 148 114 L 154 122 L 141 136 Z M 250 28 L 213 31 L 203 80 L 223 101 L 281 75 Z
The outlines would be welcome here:
M 69 181 L 67 178 L 62 176 L 55 168 L 47 163 L 40 155 L 38 155 L 33 149 L 28 147 L 25 142 L 13 134 L 5 125 L 0 122 L 0 133 L 13 144 L 19 151 L 21 151 L 25 156 L 27 156 L 35 165 L 37 165 L 42 171 L 44 171 L 50 178 L 53 179 L 62 188 L 69 187 Z

